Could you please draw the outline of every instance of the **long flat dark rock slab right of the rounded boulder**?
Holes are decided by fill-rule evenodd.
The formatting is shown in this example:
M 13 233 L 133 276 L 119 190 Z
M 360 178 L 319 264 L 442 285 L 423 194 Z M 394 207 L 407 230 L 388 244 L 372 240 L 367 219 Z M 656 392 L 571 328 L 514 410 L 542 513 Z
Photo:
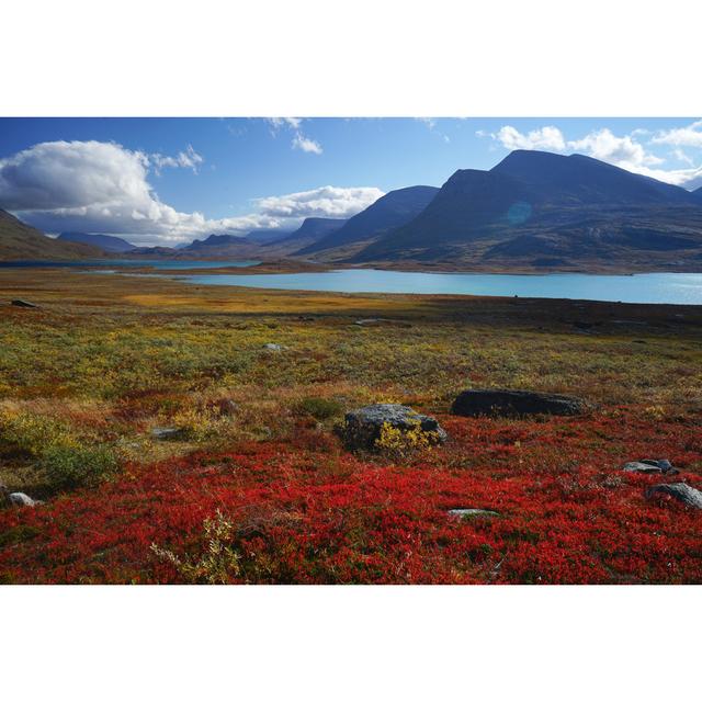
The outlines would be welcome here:
M 524 417 L 526 415 L 582 415 L 590 405 L 579 397 L 529 390 L 464 390 L 451 407 L 461 417 Z

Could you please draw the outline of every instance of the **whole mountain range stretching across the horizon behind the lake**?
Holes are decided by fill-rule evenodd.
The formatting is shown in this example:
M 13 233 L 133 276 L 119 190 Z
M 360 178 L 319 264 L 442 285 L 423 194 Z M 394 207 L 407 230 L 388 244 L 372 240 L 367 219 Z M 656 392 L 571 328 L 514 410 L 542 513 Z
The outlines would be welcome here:
M 213 234 L 178 249 L 134 248 L 103 235 L 50 239 L 0 211 L 2 259 L 98 252 L 466 270 L 702 270 L 702 188 L 689 192 L 586 156 L 517 150 L 490 170 L 457 170 L 441 188 L 388 192 L 348 220 L 309 217 L 294 231 Z

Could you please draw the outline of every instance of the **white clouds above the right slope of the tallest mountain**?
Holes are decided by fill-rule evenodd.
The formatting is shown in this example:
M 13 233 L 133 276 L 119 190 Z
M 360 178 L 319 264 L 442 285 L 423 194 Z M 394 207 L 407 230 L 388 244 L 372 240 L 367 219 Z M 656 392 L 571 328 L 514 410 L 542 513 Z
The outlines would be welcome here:
M 695 122 L 686 129 L 671 129 L 661 132 L 653 137 L 650 143 L 657 144 L 693 144 L 691 132 L 702 126 L 702 122 Z M 684 135 L 681 133 L 684 132 Z M 505 125 L 498 132 L 488 134 L 476 133 L 477 136 L 489 136 L 508 149 L 543 149 L 556 154 L 585 154 L 601 161 L 619 166 L 633 173 L 648 176 L 673 185 L 682 185 L 690 190 L 702 184 L 702 167 L 695 168 L 691 159 L 678 150 L 676 157 L 687 162 L 690 168 L 670 169 L 663 168 L 665 159 L 652 154 L 637 139 L 638 136 L 649 134 L 646 129 L 635 129 L 624 136 L 615 135 L 611 129 L 603 128 L 590 132 L 579 139 L 567 139 L 563 132 L 555 126 L 545 126 L 522 133 L 511 125 Z M 702 133 L 700 133 L 702 135 Z M 664 140 L 665 139 L 665 140 Z M 684 139 L 688 139 L 684 141 Z

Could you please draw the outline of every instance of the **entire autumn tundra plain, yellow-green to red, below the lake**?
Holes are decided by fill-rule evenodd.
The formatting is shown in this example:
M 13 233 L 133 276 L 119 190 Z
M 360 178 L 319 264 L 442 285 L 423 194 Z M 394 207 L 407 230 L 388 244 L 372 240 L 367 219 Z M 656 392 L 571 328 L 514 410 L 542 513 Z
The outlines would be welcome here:
M 701 308 L 56 270 L 1 271 L 0 301 L 0 483 L 43 500 L 0 507 L 3 584 L 702 581 L 700 513 L 621 471 L 702 487 Z M 491 386 L 595 409 L 449 414 Z M 344 412 L 386 401 L 449 441 L 347 451 Z

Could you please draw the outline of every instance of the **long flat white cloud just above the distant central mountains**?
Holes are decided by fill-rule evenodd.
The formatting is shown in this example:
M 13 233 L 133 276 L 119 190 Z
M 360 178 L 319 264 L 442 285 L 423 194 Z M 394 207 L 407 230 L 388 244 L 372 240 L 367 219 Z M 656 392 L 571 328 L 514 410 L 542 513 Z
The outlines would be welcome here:
M 377 188 L 333 188 L 326 185 L 290 195 L 262 197 L 259 211 L 272 217 L 351 217 L 385 193 Z

